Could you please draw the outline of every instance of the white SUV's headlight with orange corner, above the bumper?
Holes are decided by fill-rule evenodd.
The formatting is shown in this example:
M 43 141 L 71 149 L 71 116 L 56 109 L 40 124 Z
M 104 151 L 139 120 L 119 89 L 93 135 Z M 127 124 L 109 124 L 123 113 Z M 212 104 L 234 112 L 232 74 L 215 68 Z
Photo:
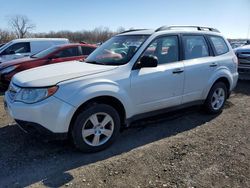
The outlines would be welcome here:
M 16 95 L 15 101 L 23 103 L 36 103 L 40 102 L 51 95 L 53 95 L 58 89 L 58 86 L 49 88 L 22 88 Z

